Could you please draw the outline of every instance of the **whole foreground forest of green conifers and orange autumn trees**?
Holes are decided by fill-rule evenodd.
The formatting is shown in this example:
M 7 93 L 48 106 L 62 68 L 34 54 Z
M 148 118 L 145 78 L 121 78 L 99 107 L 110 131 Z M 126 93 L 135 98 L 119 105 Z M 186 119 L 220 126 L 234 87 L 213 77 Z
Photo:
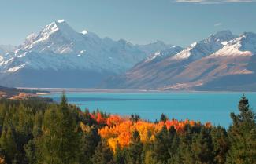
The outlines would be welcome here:
M 0 100 L 0 164 L 254 164 L 246 97 L 228 129 L 161 115 L 148 122 L 39 100 Z

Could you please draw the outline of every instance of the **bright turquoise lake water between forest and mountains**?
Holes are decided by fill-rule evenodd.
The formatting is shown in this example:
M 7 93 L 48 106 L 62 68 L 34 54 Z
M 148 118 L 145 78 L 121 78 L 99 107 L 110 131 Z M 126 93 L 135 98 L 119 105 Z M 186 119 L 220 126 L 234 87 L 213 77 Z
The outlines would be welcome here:
M 193 119 L 228 127 L 230 112 L 238 112 L 243 93 L 66 93 L 69 103 L 82 110 L 100 109 L 111 114 L 138 114 L 141 118 L 159 120 L 161 113 L 169 118 Z M 52 97 L 59 101 L 60 93 Z M 256 93 L 246 93 L 250 107 L 256 108 Z M 255 110 L 254 110 L 255 111 Z

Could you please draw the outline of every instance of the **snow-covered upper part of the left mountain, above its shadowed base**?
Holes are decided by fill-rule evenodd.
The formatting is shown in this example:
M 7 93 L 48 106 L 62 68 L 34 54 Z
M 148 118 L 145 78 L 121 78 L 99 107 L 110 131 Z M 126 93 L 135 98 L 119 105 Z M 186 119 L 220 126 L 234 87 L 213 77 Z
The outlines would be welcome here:
M 165 45 L 153 44 L 147 49 L 152 53 L 158 47 Z M 35 70 L 91 69 L 119 74 L 148 55 L 132 43 L 102 39 L 87 31 L 81 34 L 64 20 L 57 20 L 43 27 L 38 35 L 29 35 L 13 57 L 0 62 L 0 71 L 14 72 L 26 66 Z

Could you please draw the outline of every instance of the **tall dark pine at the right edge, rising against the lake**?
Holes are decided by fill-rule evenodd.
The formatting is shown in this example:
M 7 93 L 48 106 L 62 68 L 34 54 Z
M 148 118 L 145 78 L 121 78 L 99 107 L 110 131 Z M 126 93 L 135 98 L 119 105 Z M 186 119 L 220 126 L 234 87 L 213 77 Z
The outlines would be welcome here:
M 239 114 L 231 114 L 233 121 L 228 131 L 231 148 L 228 164 L 256 163 L 256 121 L 248 99 L 243 95 L 239 101 Z

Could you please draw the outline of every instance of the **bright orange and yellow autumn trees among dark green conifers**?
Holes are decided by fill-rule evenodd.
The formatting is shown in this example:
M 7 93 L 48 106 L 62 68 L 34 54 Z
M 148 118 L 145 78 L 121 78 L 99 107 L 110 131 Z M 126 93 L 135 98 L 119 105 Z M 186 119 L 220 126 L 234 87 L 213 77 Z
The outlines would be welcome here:
M 188 119 L 180 122 L 176 119 L 158 123 L 142 120 L 132 122 L 128 118 L 121 118 L 119 115 L 111 115 L 107 118 L 106 124 L 108 126 L 98 129 L 98 133 L 103 139 L 108 141 L 109 147 L 112 148 L 113 151 L 116 150 L 117 144 L 119 144 L 121 148 L 128 146 L 131 142 L 132 133 L 135 130 L 139 132 L 140 140 L 145 143 L 154 141 L 155 136 L 161 131 L 163 126 L 166 126 L 167 129 L 173 126 L 178 133 L 183 133 L 186 125 L 201 125 L 200 122 L 194 122 Z M 210 127 L 210 124 L 206 123 L 206 127 Z

